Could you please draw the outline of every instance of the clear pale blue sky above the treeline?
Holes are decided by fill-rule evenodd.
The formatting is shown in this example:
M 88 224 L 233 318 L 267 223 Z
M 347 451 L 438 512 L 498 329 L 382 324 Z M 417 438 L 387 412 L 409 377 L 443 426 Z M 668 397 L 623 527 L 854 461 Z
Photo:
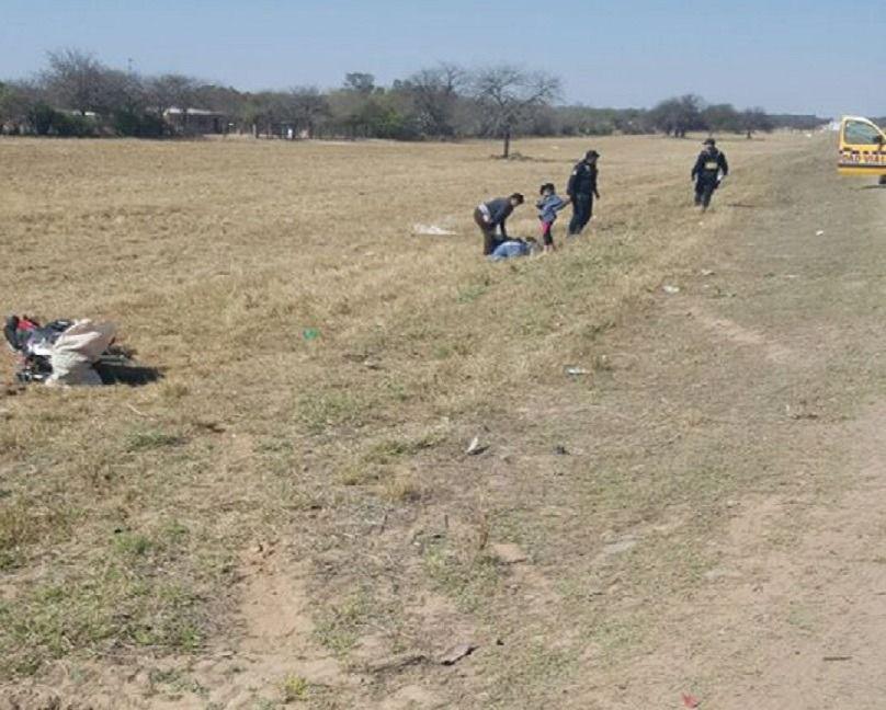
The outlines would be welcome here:
M 692 92 L 886 115 L 884 0 L 0 0 L 0 77 L 25 78 L 61 47 L 247 90 L 511 62 L 559 75 L 567 102 L 593 106 Z

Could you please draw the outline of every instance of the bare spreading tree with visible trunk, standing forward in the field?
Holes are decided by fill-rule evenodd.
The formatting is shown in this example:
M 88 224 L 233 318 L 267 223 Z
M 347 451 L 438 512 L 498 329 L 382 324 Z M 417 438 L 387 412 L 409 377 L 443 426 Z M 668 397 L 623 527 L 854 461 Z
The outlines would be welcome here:
M 488 112 L 495 133 L 504 140 L 502 158 L 508 158 L 514 128 L 533 111 L 549 105 L 560 95 L 560 80 L 504 65 L 477 71 L 472 94 Z

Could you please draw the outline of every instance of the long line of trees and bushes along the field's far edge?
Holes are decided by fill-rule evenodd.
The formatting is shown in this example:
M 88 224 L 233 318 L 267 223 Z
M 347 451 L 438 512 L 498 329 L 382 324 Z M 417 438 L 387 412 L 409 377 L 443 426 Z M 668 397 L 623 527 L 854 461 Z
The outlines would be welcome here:
M 692 130 L 745 134 L 791 125 L 762 108 L 738 111 L 692 94 L 650 110 L 558 105 L 560 80 L 498 66 L 453 64 L 421 69 L 390 87 L 366 72 L 338 89 L 295 87 L 245 92 L 180 73 L 143 76 L 104 65 L 78 49 L 49 53 L 27 81 L 0 82 L 0 128 L 7 134 L 162 137 L 205 131 L 198 114 L 224 118 L 214 130 L 254 136 L 393 138 L 496 137 L 508 156 L 518 135 L 607 135 Z M 819 123 L 825 123 L 820 121 Z

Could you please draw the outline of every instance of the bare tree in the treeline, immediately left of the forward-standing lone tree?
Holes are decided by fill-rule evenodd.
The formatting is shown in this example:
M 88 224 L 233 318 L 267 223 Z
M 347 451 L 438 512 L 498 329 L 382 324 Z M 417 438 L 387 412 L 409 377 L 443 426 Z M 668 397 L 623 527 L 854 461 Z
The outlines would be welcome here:
M 398 88 L 412 98 L 422 133 L 431 136 L 452 136 L 455 133 L 458 94 L 467 79 L 464 69 L 444 62 L 421 69 L 400 83 Z

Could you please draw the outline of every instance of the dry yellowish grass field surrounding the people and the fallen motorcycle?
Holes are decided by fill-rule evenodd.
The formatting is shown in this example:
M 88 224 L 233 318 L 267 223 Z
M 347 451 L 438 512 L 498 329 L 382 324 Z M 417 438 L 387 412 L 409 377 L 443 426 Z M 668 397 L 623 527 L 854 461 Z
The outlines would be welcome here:
M 534 201 L 589 147 L 590 232 L 487 263 L 474 206 Z M 808 427 L 848 426 L 871 353 L 828 324 L 844 295 L 819 297 L 833 264 L 879 263 L 876 232 L 855 265 L 799 236 L 839 224 L 831 191 L 864 225 L 882 191 L 834 186 L 823 138 L 726 140 L 701 218 L 695 140 L 515 148 L 0 140 L 2 309 L 113 320 L 163 375 L 22 390 L 0 359 L 0 708 L 750 707 L 674 639 L 742 573 L 712 540 L 781 517 L 747 495 L 788 505 L 797 460 L 806 492 L 843 481 Z M 510 231 L 536 230 L 519 208 Z M 806 300 L 774 287 L 804 268 Z M 815 610 L 782 616 L 802 634 Z

